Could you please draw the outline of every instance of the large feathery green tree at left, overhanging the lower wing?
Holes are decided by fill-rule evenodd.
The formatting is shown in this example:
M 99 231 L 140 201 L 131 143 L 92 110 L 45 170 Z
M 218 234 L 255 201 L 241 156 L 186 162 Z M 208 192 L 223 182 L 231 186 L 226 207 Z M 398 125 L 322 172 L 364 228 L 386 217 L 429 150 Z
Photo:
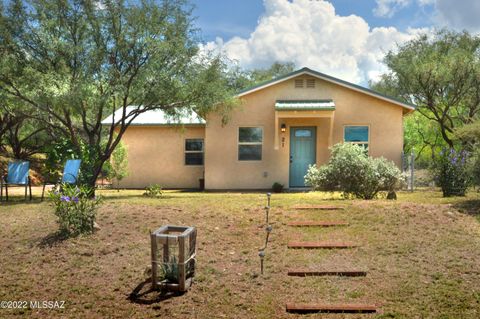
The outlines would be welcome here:
M 198 54 L 182 0 L 2 3 L 0 56 L 0 91 L 87 148 L 82 173 L 91 186 L 138 115 L 226 115 L 235 105 L 223 58 Z M 102 126 L 117 109 L 121 115 Z

